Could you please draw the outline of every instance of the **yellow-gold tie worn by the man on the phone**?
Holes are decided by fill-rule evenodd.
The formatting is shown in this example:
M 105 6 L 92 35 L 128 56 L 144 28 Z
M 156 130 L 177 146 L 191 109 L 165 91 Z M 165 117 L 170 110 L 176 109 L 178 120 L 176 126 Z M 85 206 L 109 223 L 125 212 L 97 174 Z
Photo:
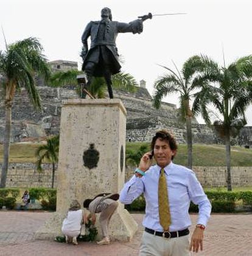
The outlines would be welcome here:
M 170 207 L 169 198 L 166 185 L 166 176 L 164 169 L 161 169 L 161 174 L 158 180 L 158 208 L 159 208 L 159 222 L 164 231 L 169 231 L 170 226 Z

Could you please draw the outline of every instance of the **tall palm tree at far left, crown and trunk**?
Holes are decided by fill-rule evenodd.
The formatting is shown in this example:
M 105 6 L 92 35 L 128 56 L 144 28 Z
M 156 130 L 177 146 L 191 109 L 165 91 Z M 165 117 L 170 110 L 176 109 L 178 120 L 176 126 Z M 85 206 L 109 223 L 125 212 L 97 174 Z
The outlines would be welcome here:
M 12 123 L 12 102 L 16 91 L 24 87 L 35 108 L 41 109 L 40 95 L 35 86 L 35 75 L 49 77 L 49 66 L 42 54 L 43 48 L 37 38 L 27 38 L 6 46 L 0 51 L 0 85 L 5 90 L 5 131 L 4 131 L 4 161 L 0 187 L 4 188 L 7 177 L 10 130 Z

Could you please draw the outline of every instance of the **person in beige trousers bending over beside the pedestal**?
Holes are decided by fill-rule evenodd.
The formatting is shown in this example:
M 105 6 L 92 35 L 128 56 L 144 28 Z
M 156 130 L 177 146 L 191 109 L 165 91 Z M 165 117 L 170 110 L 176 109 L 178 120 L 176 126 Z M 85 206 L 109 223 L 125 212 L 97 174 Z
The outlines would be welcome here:
M 109 226 L 110 219 L 118 207 L 119 194 L 98 194 L 94 199 L 86 199 L 83 202 L 83 207 L 89 210 L 89 215 L 86 216 L 86 219 L 91 219 L 93 224 L 96 222 L 96 213 L 100 213 L 100 227 L 102 229 L 102 240 L 98 241 L 97 244 L 109 244 L 110 237 Z

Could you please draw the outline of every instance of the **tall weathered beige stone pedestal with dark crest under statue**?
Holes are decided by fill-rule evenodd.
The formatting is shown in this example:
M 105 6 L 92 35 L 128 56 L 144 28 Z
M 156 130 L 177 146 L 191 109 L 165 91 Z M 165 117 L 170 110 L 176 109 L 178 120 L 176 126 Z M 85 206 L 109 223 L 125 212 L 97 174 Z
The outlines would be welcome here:
M 99 193 L 121 191 L 125 177 L 125 135 L 126 110 L 121 100 L 71 99 L 63 102 L 57 212 L 38 230 L 37 238 L 54 238 L 61 234 L 61 224 L 72 199 L 83 205 L 85 199 Z M 99 221 L 97 228 L 100 238 Z M 136 230 L 136 222 L 124 205 L 119 204 L 111 218 L 111 240 L 129 241 Z

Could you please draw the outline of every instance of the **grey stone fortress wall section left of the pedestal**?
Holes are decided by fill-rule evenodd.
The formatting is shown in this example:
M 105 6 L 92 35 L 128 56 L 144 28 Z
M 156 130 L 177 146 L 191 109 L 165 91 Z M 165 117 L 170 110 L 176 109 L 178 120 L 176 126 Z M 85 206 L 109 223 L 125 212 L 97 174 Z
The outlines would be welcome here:
M 38 87 L 43 104 L 35 110 L 25 90 L 15 94 L 12 107 L 11 142 L 56 135 L 60 129 L 61 101 L 78 98 L 72 87 Z M 0 143 L 4 140 L 4 91 L 0 90 Z

